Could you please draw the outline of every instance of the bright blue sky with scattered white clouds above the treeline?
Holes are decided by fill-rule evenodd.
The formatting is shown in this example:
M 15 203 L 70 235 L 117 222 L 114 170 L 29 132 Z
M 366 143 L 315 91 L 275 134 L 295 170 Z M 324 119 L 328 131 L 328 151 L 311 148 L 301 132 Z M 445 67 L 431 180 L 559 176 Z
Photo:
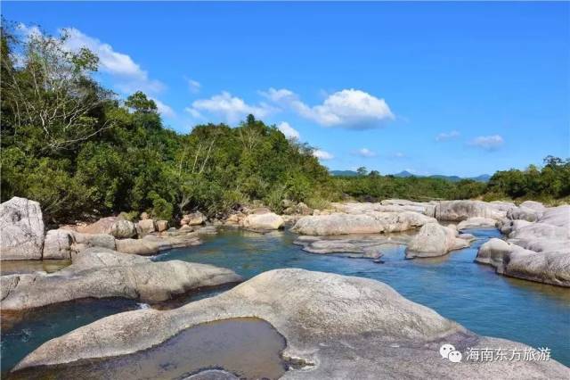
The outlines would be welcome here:
M 569 3 L 16 3 L 165 125 L 248 113 L 330 169 L 493 174 L 570 157 Z

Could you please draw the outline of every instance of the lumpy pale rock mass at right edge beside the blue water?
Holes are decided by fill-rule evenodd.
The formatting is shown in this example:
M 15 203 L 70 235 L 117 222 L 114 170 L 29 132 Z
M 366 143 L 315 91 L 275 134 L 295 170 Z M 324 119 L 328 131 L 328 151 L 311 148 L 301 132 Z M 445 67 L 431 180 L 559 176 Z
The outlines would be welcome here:
M 508 241 L 483 244 L 476 262 L 492 265 L 505 276 L 570 287 L 570 206 L 544 209 L 534 223 L 503 223 L 501 231 Z

